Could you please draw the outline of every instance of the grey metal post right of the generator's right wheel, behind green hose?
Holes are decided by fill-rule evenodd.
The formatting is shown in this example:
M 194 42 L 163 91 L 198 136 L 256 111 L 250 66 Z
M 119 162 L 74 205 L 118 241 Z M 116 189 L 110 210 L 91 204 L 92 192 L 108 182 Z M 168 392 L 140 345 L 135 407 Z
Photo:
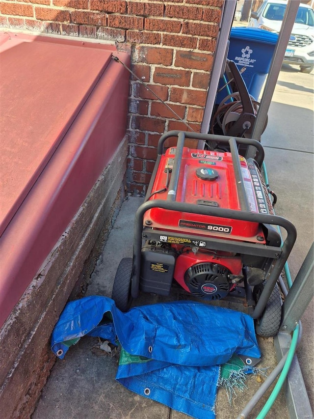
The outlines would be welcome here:
M 289 289 L 282 306 L 280 330 L 291 333 L 314 296 L 314 243 Z

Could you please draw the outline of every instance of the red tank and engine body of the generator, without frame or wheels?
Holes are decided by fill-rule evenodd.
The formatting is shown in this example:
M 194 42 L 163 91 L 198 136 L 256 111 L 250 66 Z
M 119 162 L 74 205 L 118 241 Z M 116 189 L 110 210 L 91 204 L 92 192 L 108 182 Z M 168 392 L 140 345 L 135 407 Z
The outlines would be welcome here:
M 175 155 L 176 147 L 170 147 L 161 156 L 147 200 L 169 200 Z M 253 267 L 255 274 L 257 270 L 259 281 L 263 280 L 267 260 L 242 254 L 238 245 L 278 246 L 280 237 L 276 230 L 262 223 L 202 215 L 197 211 L 204 207 L 241 211 L 243 193 L 247 211 L 273 214 L 257 163 L 238 158 L 242 189 L 237 184 L 231 152 L 183 147 L 176 201 L 195 204 L 196 210 L 187 213 L 156 207 L 146 211 L 143 236 L 149 239 L 142 247 L 139 277 L 144 292 L 168 295 L 175 279 L 194 297 L 218 300 L 243 281 L 247 267 Z M 213 248 L 211 242 L 215 244 Z

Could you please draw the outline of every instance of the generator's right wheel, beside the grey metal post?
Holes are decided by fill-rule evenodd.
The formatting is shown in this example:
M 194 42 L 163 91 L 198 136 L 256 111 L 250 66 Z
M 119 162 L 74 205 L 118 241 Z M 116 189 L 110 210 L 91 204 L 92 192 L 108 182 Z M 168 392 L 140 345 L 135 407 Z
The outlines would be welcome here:
M 265 283 L 266 282 L 263 281 L 253 288 L 253 296 L 256 303 L 259 301 Z M 281 303 L 281 296 L 278 284 L 276 283 L 261 317 L 256 320 L 255 330 L 258 335 L 262 337 L 277 335 L 281 321 Z

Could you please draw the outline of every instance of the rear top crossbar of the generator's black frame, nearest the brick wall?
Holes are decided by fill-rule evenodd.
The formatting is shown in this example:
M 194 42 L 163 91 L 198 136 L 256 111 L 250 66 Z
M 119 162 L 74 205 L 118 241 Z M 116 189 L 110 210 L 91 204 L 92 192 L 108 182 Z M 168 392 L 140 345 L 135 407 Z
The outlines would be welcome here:
M 168 131 L 167 133 L 163 134 L 158 141 L 157 145 L 157 154 L 163 154 L 163 144 L 165 140 L 170 137 L 178 137 L 179 133 L 184 134 L 185 139 L 192 139 L 192 140 L 205 140 L 205 141 L 217 141 L 228 144 L 230 140 L 230 136 L 225 135 L 215 135 L 215 134 L 199 134 L 199 133 L 192 133 L 189 131 Z M 258 150 L 258 155 L 256 157 L 257 164 L 261 167 L 262 162 L 264 160 L 264 149 L 260 141 L 252 140 L 249 138 L 239 138 L 239 137 L 232 137 L 235 139 L 237 144 L 244 144 L 244 145 L 253 145 Z

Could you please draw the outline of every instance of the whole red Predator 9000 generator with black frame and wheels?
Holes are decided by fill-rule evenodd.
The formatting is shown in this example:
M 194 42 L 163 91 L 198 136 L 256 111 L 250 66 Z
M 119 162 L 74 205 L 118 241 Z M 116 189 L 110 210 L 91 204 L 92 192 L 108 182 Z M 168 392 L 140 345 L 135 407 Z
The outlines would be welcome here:
M 176 146 L 164 143 L 176 137 Z M 191 149 L 185 139 L 216 144 Z M 253 146 L 255 158 L 238 149 Z M 133 258 L 120 262 L 112 298 L 128 310 L 139 290 L 167 296 L 174 283 L 200 300 L 244 299 L 262 336 L 278 332 L 277 280 L 296 239 L 274 214 L 259 141 L 171 131 L 157 147 L 145 202 L 135 215 Z M 287 234 L 282 243 L 278 227 Z

